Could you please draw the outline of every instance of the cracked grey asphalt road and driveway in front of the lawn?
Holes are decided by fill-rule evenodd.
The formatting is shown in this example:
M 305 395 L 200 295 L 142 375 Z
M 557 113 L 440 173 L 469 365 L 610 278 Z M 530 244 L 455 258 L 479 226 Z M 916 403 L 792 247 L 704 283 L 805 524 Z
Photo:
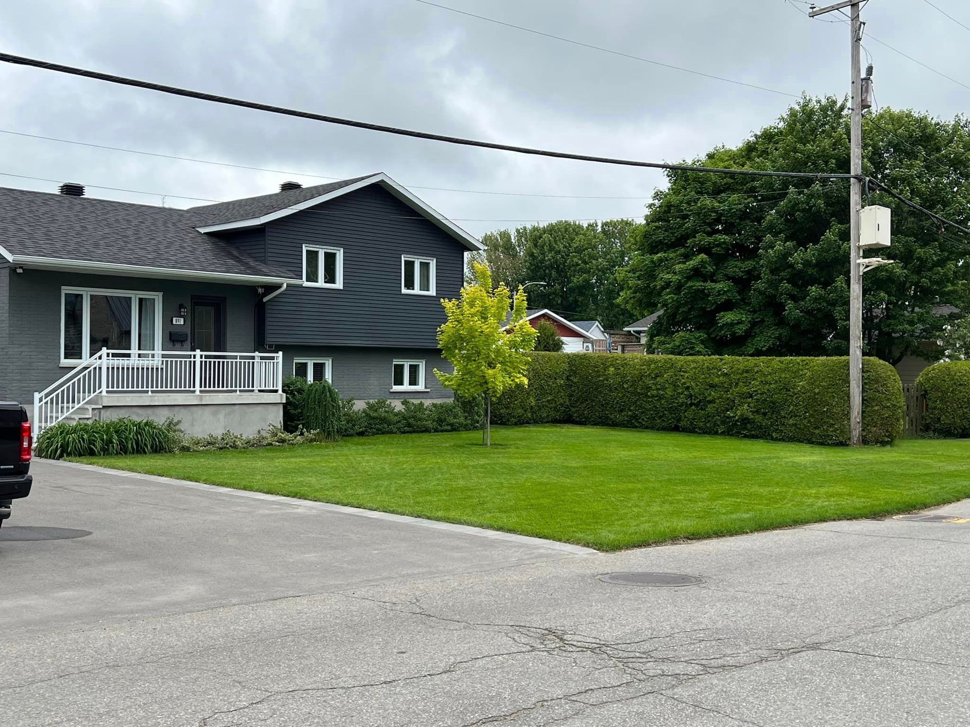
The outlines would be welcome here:
M 35 471 L 0 529 L 5 727 L 970 724 L 970 522 L 576 554 Z M 628 570 L 703 583 L 596 578 Z

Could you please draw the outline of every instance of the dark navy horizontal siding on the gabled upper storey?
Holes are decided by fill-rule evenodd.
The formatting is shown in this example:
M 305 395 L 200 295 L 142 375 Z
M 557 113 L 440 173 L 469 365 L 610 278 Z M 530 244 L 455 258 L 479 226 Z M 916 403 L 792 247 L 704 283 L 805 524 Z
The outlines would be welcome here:
M 317 210 L 317 211 L 314 211 Z M 436 348 L 440 298 L 457 298 L 465 246 L 372 185 L 267 226 L 267 263 L 303 274 L 303 245 L 343 249 L 343 287 L 293 287 L 267 304 L 269 343 Z M 401 292 L 401 256 L 436 259 L 436 295 Z

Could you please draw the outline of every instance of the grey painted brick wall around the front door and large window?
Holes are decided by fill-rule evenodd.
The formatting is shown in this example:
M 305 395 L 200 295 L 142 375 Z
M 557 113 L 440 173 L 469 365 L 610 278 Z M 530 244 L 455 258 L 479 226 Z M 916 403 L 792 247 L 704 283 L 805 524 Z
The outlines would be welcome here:
M 235 352 L 256 350 L 253 336 L 255 288 L 25 269 L 11 276 L 9 354 L 2 372 L 3 389 L 15 400 L 33 402 L 34 392 L 47 389 L 71 370 L 60 366 L 61 286 L 161 293 L 163 351 L 191 350 L 188 342 L 178 346 L 169 341 L 170 331 L 191 334 L 189 317 L 186 317 L 184 326 L 172 325 L 172 317 L 178 315 L 179 303 L 184 303 L 191 315 L 192 296 L 225 298 L 227 349 Z

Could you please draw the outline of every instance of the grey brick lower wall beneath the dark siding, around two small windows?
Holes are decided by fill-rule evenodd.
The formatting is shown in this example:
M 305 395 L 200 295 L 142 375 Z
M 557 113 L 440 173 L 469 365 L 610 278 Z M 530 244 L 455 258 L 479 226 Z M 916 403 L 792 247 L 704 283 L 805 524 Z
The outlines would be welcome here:
M 283 375 L 293 374 L 294 359 L 331 359 L 331 383 L 341 398 L 369 401 L 376 398 L 451 398 L 441 386 L 435 369 L 451 371 L 452 365 L 436 350 L 418 348 L 342 348 L 339 346 L 291 346 L 283 349 Z M 392 392 L 391 366 L 395 360 L 424 361 L 425 388 L 429 392 Z

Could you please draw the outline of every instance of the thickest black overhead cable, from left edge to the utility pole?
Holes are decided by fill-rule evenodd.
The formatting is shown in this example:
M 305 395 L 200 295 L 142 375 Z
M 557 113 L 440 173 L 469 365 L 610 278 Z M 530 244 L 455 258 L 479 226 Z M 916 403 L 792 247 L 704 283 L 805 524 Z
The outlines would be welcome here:
M 672 172 L 703 172 L 708 174 L 738 174 L 738 175 L 751 175 L 751 176 L 791 176 L 791 177 L 802 177 L 802 178 L 815 178 L 815 179 L 848 179 L 852 177 L 852 174 L 814 174 L 810 172 L 769 172 L 765 170 L 731 170 L 731 169 L 721 169 L 715 167 L 695 167 L 686 164 L 665 164 L 662 162 L 642 162 L 633 159 L 620 159 L 616 157 L 602 157 L 593 156 L 589 154 L 573 154 L 565 151 L 551 151 L 548 149 L 537 149 L 530 146 L 515 146 L 512 144 L 495 143 L 495 142 L 482 142 L 480 140 L 465 139 L 462 137 L 450 137 L 442 134 L 431 134 L 424 131 L 416 131 L 414 129 L 403 129 L 397 126 L 386 126 L 384 124 L 374 124 L 368 121 L 356 121 L 354 119 L 341 118 L 339 116 L 330 116 L 324 113 L 315 113 L 313 111 L 299 111 L 296 109 L 287 109 L 286 107 L 273 106 L 271 104 L 263 104 L 256 101 L 245 101 L 242 99 L 232 98 L 230 96 L 219 96 L 217 94 L 205 93 L 203 91 L 193 91 L 187 88 L 180 88 L 178 86 L 165 85 L 163 83 L 153 83 L 147 80 L 141 79 L 130 79 L 124 76 L 115 76 L 113 74 L 101 73 L 99 71 L 91 71 L 88 69 L 78 68 L 76 66 L 65 66 L 60 63 L 52 63 L 50 61 L 38 60 L 36 58 L 27 58 L 22 55 L 14 55 L 12 53 L 2 53 L 0 52 L 0 61 L 5 63 L 12 63 L 21 66 L 31 66 L 33 68 L 40 68 L 46 71 L 54 71 L 55 73 L 68 74 L 71 76 L 80 76 L 85 79 L 95 79 L 104 80 L 109 83 L 117 83 L 119 85 L 133 86 L 136 88 L 145 88 L 150 91 L 158 91 L 160 93 L 168 93 L 174 96 L 182 96 L 184 98 L 199 99 L 201 101 L 210 101 L 216 104 L 224 104 L 227 106 L 237 106 L 243 109 L 253 109 L 255 111 L 267 111 L 269 113 L 278 113 L 284 116 L 295 116 L 297 118 L 307 118 L 313 121 L 323 121 L 324 123 L 337 124 L 339 126 L 349 126 L 356 129 L 366 129 L 368 131 L 378 131 L 385 134 L 395 134 L 397 136 L 411 137 L 413 139 L 426 139 L 432 142 L 444 142 L 453 143 L 463 146 L 475 146 L 478 148 L 487 149 L 497 149 L 499 151 L 513 151 L 518 154 L 532 154 L 534 156 L 545 156 L 554 159 L 571 159 L 580 162 L 595 162 L 597 164 L 615 164 L 625 167 L 643 167 L 648 169 L 663 169 Z

